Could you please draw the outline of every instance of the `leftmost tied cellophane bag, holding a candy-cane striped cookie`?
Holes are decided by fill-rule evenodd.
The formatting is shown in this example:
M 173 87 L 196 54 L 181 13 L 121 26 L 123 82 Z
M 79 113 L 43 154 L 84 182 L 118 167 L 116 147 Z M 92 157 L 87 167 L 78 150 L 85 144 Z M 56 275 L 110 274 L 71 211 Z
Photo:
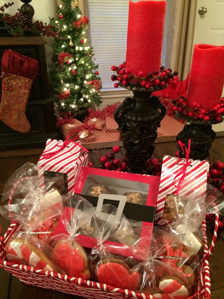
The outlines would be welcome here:
M 0 213 L 6 219 L 21 225 L 19 231 L 13 233 L 4 248 L 6 258 L 14 264 L 29 265 L 41 270 L 63 273 L 60 268 L 54 265 L 51 247 L 39 240 L 39 233 L 35 232 L 41 223 L 59 215 L 62 203 L 61 196 L 58 196 L 57 199 L 54 198 L 54 201 L 51 198 L 41 200 L 44 190 L 39 187 L 38 176 L 25 176 L 23 183 L 15 183 L 15 186 L 12 187 L 19 196 L 14 195 L 15 198 L 11 198 L 11 195 L 6 192 L 6 205 L 0 207 Z M 51 183 L 49 181 L 47 185 L 50 186 Z M 11 191 L 9 188 L 8 193 L 11 194 Z

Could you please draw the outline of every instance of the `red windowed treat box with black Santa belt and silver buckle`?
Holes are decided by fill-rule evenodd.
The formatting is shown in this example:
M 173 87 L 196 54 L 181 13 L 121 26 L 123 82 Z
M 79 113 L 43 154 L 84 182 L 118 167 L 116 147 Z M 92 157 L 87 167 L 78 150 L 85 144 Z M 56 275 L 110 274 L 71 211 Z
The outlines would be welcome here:
M 82 167 L 74 193 L 81 195 L 97 210 L 104 204 L 114 205 L 118 212 L 141 227 L 142 236 L 144 227 L 153 227 L 159 181 L 160 178 L 155 176 Z M 104 194 L 96 195 L 98 187 L 103 188 Z M 66 233 L 62 222 L 59 222 L 54 232 L 55 235 L 60 233 Z M 79 244 L 86 248 L 96 246 L 96 241 L 84 234 L 77 238 Z M 118 242 L 107 240 L 106 243 L 116 245 Z

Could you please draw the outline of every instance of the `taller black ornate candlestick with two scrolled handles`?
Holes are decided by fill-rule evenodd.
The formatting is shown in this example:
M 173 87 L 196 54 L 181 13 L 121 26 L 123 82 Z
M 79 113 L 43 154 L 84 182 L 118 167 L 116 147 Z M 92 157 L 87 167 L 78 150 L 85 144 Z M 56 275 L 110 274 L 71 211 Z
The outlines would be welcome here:
M 166 115 L 165 106 L 160 103 L 158 97 L 151 94 L 166 86 L 157 85 L 146 89 L 130 82 L 125 86 L 120 82 L 119 85 L 134 93 L 133 98 L 126 98 L 114 111 L 114 119 L 118 124 L 118 130 L 121 130 L 124 151 L 130 167 L 128 172 L 144 173 L 145 163 L 151 158 L 155 148 L 157 127 L 160 127 L 160 122 Z

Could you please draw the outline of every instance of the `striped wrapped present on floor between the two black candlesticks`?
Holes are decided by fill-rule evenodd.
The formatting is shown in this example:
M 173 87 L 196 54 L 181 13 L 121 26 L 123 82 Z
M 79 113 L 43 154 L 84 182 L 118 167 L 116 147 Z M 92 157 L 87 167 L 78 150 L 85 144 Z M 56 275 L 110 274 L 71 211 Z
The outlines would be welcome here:
M 161 121 L 161 127 L 157 129 L 157 136 L 177 136 L 177 134 L 183 130 L 184 124 L 178 122 L 173 117 L 169 115 L 165 115 L 165 117 Z

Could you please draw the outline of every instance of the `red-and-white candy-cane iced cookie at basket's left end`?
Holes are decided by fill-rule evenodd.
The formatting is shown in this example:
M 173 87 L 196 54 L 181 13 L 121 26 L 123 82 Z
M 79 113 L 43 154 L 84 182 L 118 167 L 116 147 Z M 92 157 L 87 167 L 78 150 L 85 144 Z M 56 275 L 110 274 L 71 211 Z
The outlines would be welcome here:
M 36 247 L 24 242 L 23 239 L 10 241 L 5 249 L 9 262 L 19 265 L 29 265 L 44 271 L 58 272 L 58 268 Z

